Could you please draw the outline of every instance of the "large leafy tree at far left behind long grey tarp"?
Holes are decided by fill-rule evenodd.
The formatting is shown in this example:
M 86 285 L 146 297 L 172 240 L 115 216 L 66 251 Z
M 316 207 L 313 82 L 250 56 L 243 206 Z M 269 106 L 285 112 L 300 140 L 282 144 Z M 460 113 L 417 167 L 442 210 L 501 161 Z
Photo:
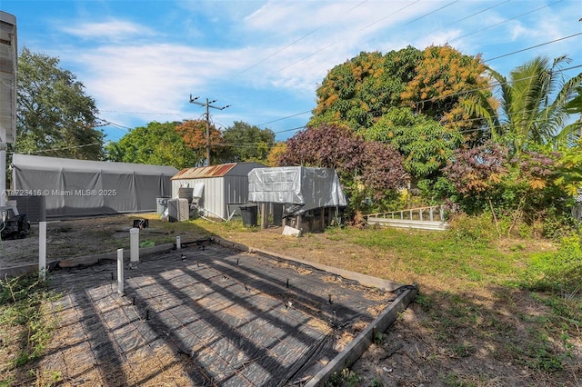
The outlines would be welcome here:
M 23 49 L 18 60 L 15 152 L 101 160 L 95 100 L 59 59 Z

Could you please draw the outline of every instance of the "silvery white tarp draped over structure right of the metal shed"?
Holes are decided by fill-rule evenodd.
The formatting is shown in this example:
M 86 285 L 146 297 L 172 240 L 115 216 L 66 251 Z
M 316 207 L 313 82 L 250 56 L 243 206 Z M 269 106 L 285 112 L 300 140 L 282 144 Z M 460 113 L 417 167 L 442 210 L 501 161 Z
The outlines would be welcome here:
M 346 206 L 336 171 L 306 166 L 253 169 L 248 174 L 248 200 L 286 204 L 287 215 Z

